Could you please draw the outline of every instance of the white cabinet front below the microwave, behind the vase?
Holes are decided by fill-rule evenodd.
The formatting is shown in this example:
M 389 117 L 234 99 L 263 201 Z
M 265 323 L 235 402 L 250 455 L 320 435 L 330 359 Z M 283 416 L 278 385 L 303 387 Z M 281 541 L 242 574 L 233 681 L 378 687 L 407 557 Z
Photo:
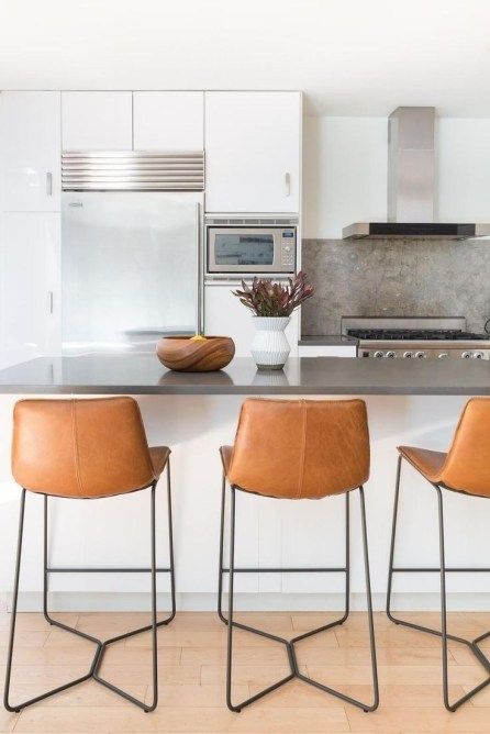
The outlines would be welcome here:
M 213 283 L 204 287 L 204 331 L 209 335 L 231 336 L 235 342 L 235 355 L 249 357 L 255 329 L 252 313 L 233 296 L 238 282 Z M 298 356 L 300 314 L 296 311 L 286 330 L 290 356 Z

